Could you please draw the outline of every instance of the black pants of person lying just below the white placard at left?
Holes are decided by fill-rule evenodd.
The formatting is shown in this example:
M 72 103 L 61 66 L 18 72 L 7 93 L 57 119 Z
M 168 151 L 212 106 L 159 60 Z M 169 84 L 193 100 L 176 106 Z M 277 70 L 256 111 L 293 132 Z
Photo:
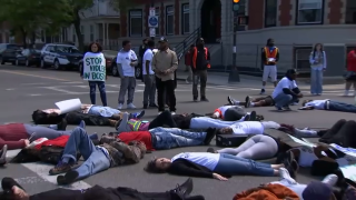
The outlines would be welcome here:
M 67 120 L 68 124 L 75 124 L 75 126 L 79 124 L 80 121 L 83 120 L 87 126 L 108 126 L 108 127 L 110 127 L 109 118 L 82 113 L 80 111 L 73 111 L 73 112 L 67 113 L 66 120 Z

